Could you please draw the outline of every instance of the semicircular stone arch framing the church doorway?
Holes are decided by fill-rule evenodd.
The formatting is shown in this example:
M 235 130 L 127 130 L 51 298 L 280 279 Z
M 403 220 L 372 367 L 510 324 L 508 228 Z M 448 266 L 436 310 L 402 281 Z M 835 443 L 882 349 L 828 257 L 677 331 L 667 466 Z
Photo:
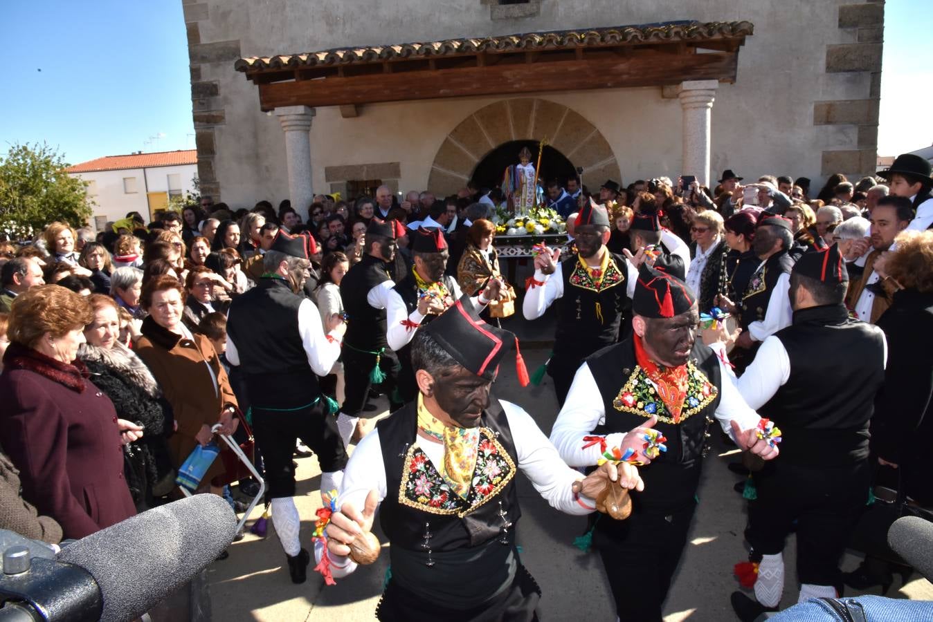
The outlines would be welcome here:
M 427 187 L 438 196 L 453 194 L 473 178 L 485 157 L 500 146 L 532 141 L 536 147 L 544 137 L 573 166 L 583 168 L 583 183 L 591 191 L 607 179 L 621 183 L 612 147 L 590 121 L 561 103 L 517 98 L 484 106 L 453 128 L 434 157 Z

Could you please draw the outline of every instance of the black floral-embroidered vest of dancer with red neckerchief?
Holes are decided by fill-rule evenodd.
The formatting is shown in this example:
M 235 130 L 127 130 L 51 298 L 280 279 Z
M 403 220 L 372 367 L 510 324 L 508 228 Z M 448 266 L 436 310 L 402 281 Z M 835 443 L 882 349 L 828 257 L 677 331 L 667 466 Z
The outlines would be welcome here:
M 706 435 L 718 426 L 721 378 L 716 354 L 699 340 L 687 363 L 689 385 L 679 422 L 658 398 L 657 390 L 635 361 L 632 338 L 586 359 L 606 410 L 601 434 L 628 432 L 658 416 L 655 429 L 667 437 L 667 452 L 640 469 L 645 491 L 634 494 L 635 509 L 670 512 L 693 502 L 700 478 Z M 600 523 L 617 521 L 600 521 Z

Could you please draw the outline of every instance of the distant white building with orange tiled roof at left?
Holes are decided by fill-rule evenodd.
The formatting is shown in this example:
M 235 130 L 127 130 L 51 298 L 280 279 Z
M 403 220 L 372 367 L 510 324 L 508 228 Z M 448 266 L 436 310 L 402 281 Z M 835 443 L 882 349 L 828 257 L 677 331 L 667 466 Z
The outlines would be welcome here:
M 198 156 L 194 149 L 104 156 L 76 164 L 67 172 L 88 182 L 88 197 L 96 204 L 93 224 L 100 231 L 130 211 L 154 220 L 170 196 L 193 192 Z

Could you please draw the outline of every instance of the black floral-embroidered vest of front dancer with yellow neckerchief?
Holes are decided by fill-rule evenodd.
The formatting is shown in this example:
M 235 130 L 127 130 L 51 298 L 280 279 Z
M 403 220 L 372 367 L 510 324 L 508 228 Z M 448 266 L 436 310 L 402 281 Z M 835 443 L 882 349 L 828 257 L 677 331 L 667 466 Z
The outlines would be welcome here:
M 388 490 L 379 515 L 392 548 L 424 551 L 425 522 L 435 557 L 490 541 L 506 548 L 497 539 L 513 531 L 503 526 L 514 525 L 522 512 L 514 485 L 518 455 L 498 400 L 492 399 L 480 420 L 480 452 L 466 499 L 450 490 L 437 467 L 415 446 L 417 420 L 412 402 L 376 425 Z M 426 442 L 430 441 L 418 438 L 419 444 Z

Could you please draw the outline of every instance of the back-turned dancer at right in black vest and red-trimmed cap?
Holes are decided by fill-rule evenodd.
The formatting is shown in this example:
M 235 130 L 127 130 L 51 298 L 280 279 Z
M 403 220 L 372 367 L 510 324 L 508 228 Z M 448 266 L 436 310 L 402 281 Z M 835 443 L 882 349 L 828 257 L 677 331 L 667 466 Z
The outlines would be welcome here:
M 842 594 L 839 561 L 869 489 L 869 420 L 886 357 L 884 333 L 842 304 L 848 280 L 837 245 L 803 254 L 790 274 L 793 324 L 765 339 L 736 381 L 786 435 L 781 460 L 753 473 L 745 538 L 759 564 L 757 602 L 732 595 L 743 620 L 781 601 L 781 551 L 795 524 L 800 602 Z

